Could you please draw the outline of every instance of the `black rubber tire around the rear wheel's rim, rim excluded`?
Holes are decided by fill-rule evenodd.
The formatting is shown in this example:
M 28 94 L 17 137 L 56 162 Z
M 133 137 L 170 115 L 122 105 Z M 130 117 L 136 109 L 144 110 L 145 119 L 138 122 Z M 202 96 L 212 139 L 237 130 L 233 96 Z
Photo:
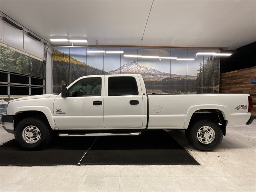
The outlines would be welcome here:
M 208 144 L 202 143 L 199 141 L 197 137 L 197 132 L 199 131 L 200 128 L 208 126 L 213 129 L 215 132 L 215 138 Z M 198 150 L 201 151 L 212 151 L 216 149 L 222 139 L 223 139 L 223 132 L 221 129 L 221 126 L 218 124 L 218 121 L 214 121 L 212 119 L 203 119 L 197 121 L 195 124 L 193 124 L 190 128 L 186 130 L 187 136 L 188 136 L 188 141 L 190 144 Z

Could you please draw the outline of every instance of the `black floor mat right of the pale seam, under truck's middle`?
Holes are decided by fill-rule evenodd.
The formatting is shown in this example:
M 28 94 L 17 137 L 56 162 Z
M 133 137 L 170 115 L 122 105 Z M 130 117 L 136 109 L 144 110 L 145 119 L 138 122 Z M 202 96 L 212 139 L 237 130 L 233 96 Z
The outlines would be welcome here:
M 164 131 L 140 136 L 98 137 L 81 160 L 87 165 L 199 164 Z

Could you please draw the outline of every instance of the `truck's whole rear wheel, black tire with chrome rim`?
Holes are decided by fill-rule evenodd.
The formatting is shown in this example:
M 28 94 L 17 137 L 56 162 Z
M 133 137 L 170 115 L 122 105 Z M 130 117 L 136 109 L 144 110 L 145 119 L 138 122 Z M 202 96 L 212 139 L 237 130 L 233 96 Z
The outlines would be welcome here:
M 217 121 L 203 119 L 186 130 L 186 137 L 195 149 L 211 151 L 220 145 L 223 132 Z

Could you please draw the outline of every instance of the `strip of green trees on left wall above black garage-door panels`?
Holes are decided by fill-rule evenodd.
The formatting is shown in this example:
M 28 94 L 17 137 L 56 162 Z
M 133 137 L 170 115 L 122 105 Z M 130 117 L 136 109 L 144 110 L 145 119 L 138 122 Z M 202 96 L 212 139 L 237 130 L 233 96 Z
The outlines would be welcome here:
M 0 70 L 45 78 L 45 67 L 42 61 L 0 46 Z

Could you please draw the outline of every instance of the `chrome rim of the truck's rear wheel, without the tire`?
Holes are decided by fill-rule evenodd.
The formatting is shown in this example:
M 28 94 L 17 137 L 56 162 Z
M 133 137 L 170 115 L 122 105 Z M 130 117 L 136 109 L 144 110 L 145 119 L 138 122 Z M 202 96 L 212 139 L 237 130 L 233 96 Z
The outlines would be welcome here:
M 198 129 L 196 136 L 197 140 L 199 140 L 201 143 L 209 144 L 214 140 L 215 132 L 212 127 L 203 126 Z

